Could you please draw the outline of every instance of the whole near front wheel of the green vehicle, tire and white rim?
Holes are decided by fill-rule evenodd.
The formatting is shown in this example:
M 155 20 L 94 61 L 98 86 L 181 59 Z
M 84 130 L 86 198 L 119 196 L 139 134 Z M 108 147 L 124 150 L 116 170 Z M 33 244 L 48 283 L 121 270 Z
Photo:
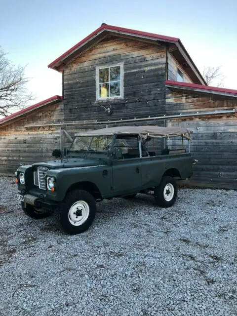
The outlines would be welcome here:
M 95 218 L 95 199 L 84 190 L 70 191 L 59 208 L 61 226 L 70 235 L 86 231 Z

